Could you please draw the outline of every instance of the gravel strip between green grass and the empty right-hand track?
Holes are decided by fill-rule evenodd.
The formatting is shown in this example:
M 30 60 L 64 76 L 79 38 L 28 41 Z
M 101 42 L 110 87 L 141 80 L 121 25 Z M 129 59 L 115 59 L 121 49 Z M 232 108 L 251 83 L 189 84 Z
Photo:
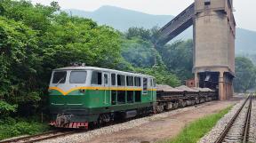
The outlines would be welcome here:
M 236 114 L 236 111 L 242 106 L 244 100 L 241 100 L 237 103 L 232 109 L 228 112 L 228 114 L 224 115 L 218 123 L 212 128 L 212 131 L 209 131 L 202 139 L 198 141 L 198 143 L 214 143 L 216 139 L 219 138 L 220 133 L 224 131 L 225 127 L 228 125 L 230 119 Z

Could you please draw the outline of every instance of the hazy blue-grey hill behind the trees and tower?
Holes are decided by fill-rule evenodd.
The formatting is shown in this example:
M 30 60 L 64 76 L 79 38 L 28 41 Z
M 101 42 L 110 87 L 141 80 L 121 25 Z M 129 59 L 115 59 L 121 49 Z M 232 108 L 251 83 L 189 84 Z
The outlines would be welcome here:
M 64 11 L 72 15 L 95 20 L 101 25 L 105 24 L 123 32 L 131 27 L 163 27 L 164 24 L 174 18 L 172 15 L 151 15 L 115 6 L 102 6 L 94 12 L 84 12 L 75 9 Z M 175 39 L 189 39 L 192 36 L 192 28 L 188 28 Z M 256 54 L 254 50 L 256 40 L 254 39 L 256 39 L 255 31 L 236 28 L 236 54 Z

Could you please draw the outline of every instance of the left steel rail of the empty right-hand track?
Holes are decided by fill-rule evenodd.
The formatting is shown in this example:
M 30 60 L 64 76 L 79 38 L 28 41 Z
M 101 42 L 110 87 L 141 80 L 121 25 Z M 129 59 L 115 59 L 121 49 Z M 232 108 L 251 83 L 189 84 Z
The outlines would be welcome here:
M 223 139 L 225 139 L 229 129 L 232 127 L 233 123 L 236 121 L 237 116 L 240 114 L 242 109 L 244 108 L 245 103 L 248 101 L 248 99 L 251 98 L 251 95 L 248 96 L 247 99 L 244 100 L 243 105 L 237 110 L 236 114 L 231 118 L 230 122 L 228 123 L 227 127 L 224 129 L 224 131 L 221 132 L 219 138 L 215 141 L 215 143 L 221 143 Z M 252 98 L 251 98 L 252 99 Z M 249 108 L 249 107 L 248 107 Z

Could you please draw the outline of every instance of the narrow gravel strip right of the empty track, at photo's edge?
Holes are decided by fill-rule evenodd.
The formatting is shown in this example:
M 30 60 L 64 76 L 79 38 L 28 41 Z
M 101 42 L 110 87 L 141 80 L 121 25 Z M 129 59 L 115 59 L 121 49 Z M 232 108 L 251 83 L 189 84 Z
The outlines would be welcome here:
M 256 142 L 256 99 L 252 100 L 252 113 L 248 141 Z

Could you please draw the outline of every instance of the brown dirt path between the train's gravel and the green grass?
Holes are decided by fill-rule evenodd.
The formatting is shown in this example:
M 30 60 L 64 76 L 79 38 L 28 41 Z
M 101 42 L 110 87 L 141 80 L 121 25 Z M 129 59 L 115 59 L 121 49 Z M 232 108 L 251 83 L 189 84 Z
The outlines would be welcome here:
M 108 135 L 100 135 L 92 138 L 90 143 L 128 143 L 128 142 L 156 142 L 162 139 L 175 137 L 180 130 L 188 123 L 195 121 L 204 115 L 211 115 L 219 112 L 237 102 L 237 98 L 228 101 L 212 101 L 200 105 L 190 110 L 158 118 L 149 123 L 142 124 L 138 127 L 118 131 Z

